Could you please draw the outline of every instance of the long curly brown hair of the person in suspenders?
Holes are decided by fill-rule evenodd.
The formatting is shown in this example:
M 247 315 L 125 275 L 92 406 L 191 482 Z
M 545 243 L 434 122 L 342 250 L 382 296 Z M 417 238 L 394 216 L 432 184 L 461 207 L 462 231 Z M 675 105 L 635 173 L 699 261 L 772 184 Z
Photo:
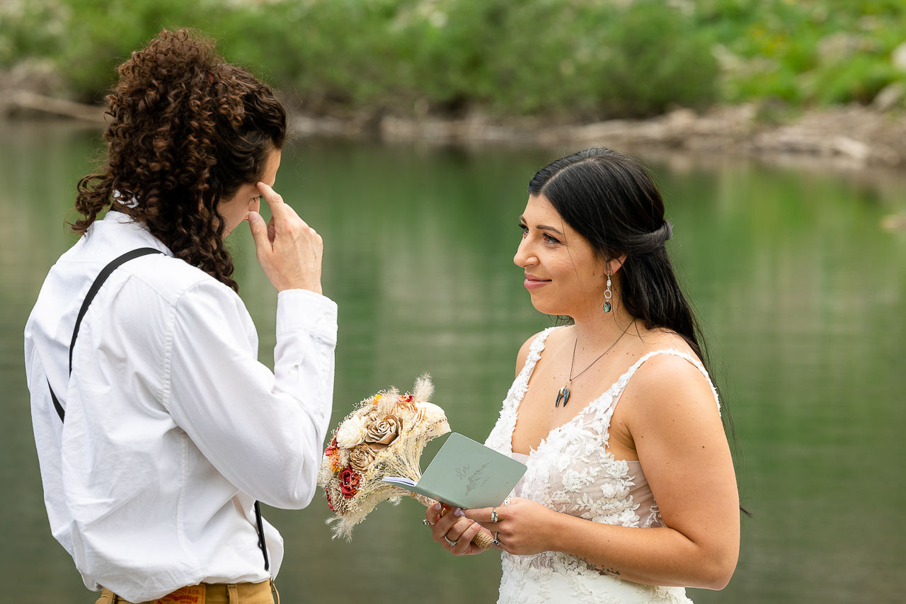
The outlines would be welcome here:
M 72 230 L 83 234 L 111 206 L 237 290 L 217 206 L 261 180 L 270 152 L 283 147 L 283 105 L 226 63 L 213 40 L 186 29 L 161 31 L 117 71 L 106 98 L 106 165 L 79 181 L 75 209 L 84 218 Z

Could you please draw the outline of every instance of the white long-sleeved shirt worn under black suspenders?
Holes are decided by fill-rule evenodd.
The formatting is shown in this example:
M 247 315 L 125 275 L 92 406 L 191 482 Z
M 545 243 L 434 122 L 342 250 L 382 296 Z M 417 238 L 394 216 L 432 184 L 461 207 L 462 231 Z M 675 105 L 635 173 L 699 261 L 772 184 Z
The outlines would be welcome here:
M 101 268 L 111 274 L 75 318 Z M 275 372 L 242 299 L 109 212 L 53 266 L 25 326 L 34 439 L 53 536 L 85 585 L 157 599 L 200 582 L 267 580 L 283 540 L 255 500 L 311 502 L 333 404 L 336 304 L 277 297 Z M 54 409 L 48 382 L 65 409 Z

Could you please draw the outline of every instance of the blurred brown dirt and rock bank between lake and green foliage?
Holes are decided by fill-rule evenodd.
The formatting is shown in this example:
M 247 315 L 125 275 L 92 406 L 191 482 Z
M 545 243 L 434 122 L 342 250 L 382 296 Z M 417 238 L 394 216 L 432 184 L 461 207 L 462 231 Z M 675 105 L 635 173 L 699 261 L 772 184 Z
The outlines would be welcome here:
M 0 91 L 0 114 L 11 119 L 65 117 L 101 125 L 103 108 L 21 90 Z M 649 120 L 549 125 L 539 119 L 413 119 L 362 112 L 350 119 L 295 113 L 300 137 L 370 137 L 429 144 L 581 147 L 656 147 L 702 154 L 798 156 L 843 162 L 853 168 L 906 169 L 906 113 L 851 105 L 809 110 L 766 121 L 756 104 L 719 106 L 697 113 L 677 109 Z

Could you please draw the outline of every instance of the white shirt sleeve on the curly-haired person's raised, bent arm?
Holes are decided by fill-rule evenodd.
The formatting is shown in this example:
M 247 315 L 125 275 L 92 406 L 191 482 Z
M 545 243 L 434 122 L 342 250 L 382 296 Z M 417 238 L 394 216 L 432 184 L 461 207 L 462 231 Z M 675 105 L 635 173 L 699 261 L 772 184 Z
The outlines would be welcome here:
M 277 298 L 275 371 L 255 326 L 219 283 L 189 287 L 171 313 L 161 393 L 191 443 L 238 489 L 275 507 L 311 502 L 333 406 L 337 307 L 302 289 Z

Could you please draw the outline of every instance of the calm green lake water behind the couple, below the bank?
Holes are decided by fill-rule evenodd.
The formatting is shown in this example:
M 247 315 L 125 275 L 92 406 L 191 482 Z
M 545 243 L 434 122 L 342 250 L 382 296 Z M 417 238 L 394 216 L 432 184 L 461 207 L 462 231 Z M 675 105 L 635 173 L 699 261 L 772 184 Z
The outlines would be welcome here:
M 25 385 L 22 333 L 100 134 L 0 124 L 0 584 L 4 602 L 88 604 L 53 537 Z M 559 150 L 564 152 L 572 149 Z M 545 326 L 512 263 L 525 185 L 557 151 L 298 140 L 276 189 L 323 235 L 340 306 L 333 423 L 428 372 L 454 430 L 484 440 L 516 351 Z M 675 225 L 669 248 L 706 327 L 737 430 L 744 519 L 727 589 L 696 602 L 901 601 L 906 583 L 906 175 L 643 156 Z M 240 227 L 231 246 L 260 357 L 275 290 Z M 428 453 L 429 454 L 429 453 Z M 496 601 L 495 552 L 453 558 L 417 502 L 382 504 L 331 541 L 323 497 L 265 508 L 283 533 L 284 602 Z

